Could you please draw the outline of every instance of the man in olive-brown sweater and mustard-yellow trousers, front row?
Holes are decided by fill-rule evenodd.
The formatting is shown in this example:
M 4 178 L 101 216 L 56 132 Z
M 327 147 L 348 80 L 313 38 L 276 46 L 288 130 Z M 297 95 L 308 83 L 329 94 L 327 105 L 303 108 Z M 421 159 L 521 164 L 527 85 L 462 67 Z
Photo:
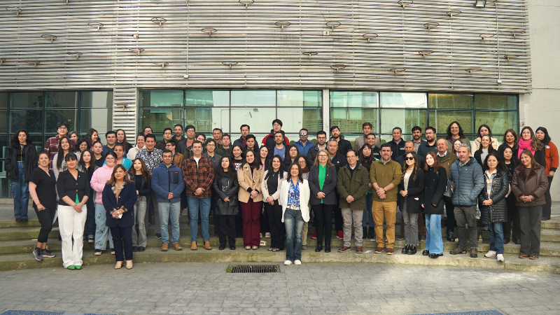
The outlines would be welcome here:
M 375 223 L 375 240 L 377 249 L 375 253 L 381 253 L 385 246 L 383 239 L 383 219 L 387 224 L 387 255 L 393 255 L 395 244 L 395 220 L 397 214 L 397 186 L 402 180 L 402 169 L 400 164 L 391 160 L 393 151 L 390 144 L 381 146 L 381 160 L 372 163 L 370 168 L 370 182 L 375 193 L 373 200 L 373 221 Z

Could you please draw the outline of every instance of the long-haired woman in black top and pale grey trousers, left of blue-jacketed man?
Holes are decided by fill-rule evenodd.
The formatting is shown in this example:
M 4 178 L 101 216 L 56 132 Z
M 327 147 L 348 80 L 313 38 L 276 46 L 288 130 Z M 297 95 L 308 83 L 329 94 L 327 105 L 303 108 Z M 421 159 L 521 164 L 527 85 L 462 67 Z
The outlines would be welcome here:
M 132 167 L 128 170 L 128 176 L 134 182 L 138 195 L 136 204 L 134 204 L 135 224 L 132 226 L 132 251 L 146 251 L 146 245 L 148 244 L 148 239 L 146 239 L 146 211 L 148 209 L 148 197 L 152 193 L 151 174 L 148 172 L 144 160 L 135 158 L 132 160 Z

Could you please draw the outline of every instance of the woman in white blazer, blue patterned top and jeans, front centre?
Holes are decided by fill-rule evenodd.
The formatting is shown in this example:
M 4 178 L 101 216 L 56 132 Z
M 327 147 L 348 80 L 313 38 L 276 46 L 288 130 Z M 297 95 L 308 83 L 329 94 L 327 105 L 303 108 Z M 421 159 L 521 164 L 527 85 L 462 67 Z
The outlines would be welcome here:
M 292 163 L 289 175 L 280 186 L 279 204 L 282 206 L 282 222 L 286 224 L 286 261 L 284 265 L 302 264 L 302 230 L 309 222 L 309 183 L 303 179 L 300 165 Z M 295 239 L 295 242 L 294 242 Z

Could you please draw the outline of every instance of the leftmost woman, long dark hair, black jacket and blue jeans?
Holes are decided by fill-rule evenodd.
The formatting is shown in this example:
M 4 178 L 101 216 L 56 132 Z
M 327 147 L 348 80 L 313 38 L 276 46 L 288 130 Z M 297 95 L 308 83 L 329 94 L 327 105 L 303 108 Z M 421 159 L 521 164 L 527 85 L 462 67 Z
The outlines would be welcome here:
M 12 137 L 6 148 L 6 171 L 12 181 L 10 189 L 13 197 L 15 222 L 27 222 L 29 207 L 29 176 L 37 168 L 37 151 L 29 139 L 27 130 L 20 129 Z

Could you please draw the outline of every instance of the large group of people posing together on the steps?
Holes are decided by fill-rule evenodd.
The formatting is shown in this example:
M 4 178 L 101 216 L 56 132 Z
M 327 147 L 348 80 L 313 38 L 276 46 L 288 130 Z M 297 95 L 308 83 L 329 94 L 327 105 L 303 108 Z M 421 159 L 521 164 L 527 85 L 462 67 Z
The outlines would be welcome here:
M 218 128 L 207 139 L 193 125 L 175 125 L 162 130 L 160 141 L 145 127 L 134 145 L 124 130 L 115 130 L 106 132 L 103 145 L 97 130 L 79 137 L 60 122 L 41 153 L 27 131 L 18 130 L 6 150 L 15 221 L 28 220 L 30 194 L 41 223 L 33 255 L 43 260 L 55 257 L 47 242 L 58 218 L 66 269 L 82 268 L 83 241 L 102 255 L 108 240 L 115 268 L 131 269 L 133 253 L 146 250 L 150 224 L 161 251 L 170 245 L 181 251 L 180 216 L 188 216 L 193 251 L 199 225 L 202 246 L 212 249 L 214 216 L 219 250 L 228 244 L 235 250 L 236 238 L 247 251 L 256 250 L 265 235 L 268 251 L 286 249 L 284 265 L 301 265 L 311 224 L 315 251 L 329 253 L 333 221 L 334 237 L 344 241 L 337 251 L 352 250 L 353 228 L 356 253 L 369 238 L 377 245 L 374 253 L 391 255 L 398 210 L 403 254 L 438 258 L 444 236 L 454 242 L 456 229 L 458 246 L 450 254 L 476 258 L 479 214 L 490 238 L 484 256 L 504 261 L 504 244 L 512 239 L 521 244 L 519 258 L 538 259 L 540 222 L 550 218 L 550 183 L 559 165 L 546 128 L 535 134 L 524 127 L 519 139 L 507 130 L 499 144 L 481 125 L 471 147 L 457 121 L 440 139 L 434 127 L 416 126 L 412 140 L 404 141 L 395 127 L 384 144 L 371 123 L 362 127 L 353 146 L 337 126 L 330 134 L 317 132 L 316 144 L 302 128 L 290 144 L 279 119 L 260 146 L 248 125 L 241 125 L 239 139 Z

